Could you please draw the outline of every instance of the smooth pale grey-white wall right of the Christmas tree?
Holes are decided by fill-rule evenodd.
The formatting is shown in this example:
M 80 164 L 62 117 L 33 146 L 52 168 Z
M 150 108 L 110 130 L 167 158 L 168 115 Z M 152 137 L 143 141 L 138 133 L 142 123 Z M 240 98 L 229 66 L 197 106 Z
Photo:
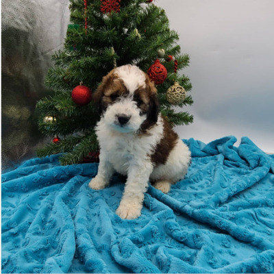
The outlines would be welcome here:
M 194 123 L 181 138 L 248 136 L 274 153 L 274 1 L 155 0 L 190 66 Z M 238 143 L 237 143 L 238 144 Z

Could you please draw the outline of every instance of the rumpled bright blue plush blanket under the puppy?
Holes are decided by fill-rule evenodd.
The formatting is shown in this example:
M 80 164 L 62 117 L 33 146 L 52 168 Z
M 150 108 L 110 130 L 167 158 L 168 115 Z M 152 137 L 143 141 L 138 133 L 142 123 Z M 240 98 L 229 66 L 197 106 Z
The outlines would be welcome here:
M 97 164 L 58 155 L 2 175 L 3 273 L 273 273 L 274 157 L 249 138 L 192 152 L 186 178 L 149 186 L 142 215 L 115 214 L 124 184 L 88 188 Z

